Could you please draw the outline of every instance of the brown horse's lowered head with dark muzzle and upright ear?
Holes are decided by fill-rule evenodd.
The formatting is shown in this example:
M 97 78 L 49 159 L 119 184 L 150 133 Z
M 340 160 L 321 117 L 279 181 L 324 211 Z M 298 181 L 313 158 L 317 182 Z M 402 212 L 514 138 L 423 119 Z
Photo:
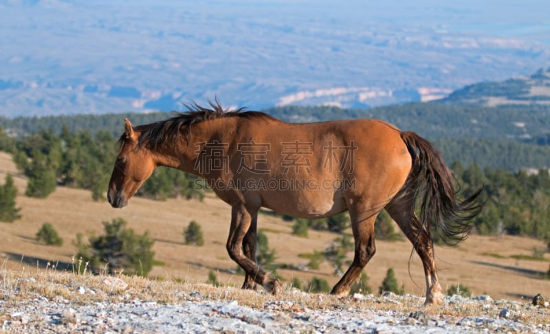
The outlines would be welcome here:
M 113 208 L 126 206 L 156 167 L 151 152 L 140 145 L 139 139 L 140 132 L 124 119 L 124 134 L 120 137 L 120 150 L 107 190 L 107 200 Z

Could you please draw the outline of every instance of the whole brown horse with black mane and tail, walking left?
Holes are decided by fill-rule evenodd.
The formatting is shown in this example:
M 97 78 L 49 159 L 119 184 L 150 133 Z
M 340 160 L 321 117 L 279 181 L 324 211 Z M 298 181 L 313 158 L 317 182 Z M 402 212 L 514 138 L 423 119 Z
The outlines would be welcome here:
M 467 237 L 477 191 L 457 200 L 441 154 L 413 132 L 374 119 L 286 123 L 262 112 L 197 104 L 177 117 L 133 128 L 125 119 L 107 198 L 122 208 L 157 166 L 201 176 L 232 207 L 227 250 L 246 276 L 273 294 L 278 279 L 255 262 L 259 208 L 296 217 L 349 211 L 355 257 L 331 294 L 348 294 L 375 254 L 374 223 L 385 208 L 419 254 L 426 303 L 442 302 L 431 226 L 450 243 Z M 419 199 L 420 218 L 415 215 Z

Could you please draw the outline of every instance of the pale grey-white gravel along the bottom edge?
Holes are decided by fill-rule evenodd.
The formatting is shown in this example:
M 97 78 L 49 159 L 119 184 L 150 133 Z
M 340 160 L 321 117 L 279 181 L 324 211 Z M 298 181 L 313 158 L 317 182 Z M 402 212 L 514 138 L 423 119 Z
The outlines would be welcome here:
M 95 291 L 78 287 L 74 294 Z M 292 300 L 267 301 L 263 307 L 239 305 L 236 300 L 217 301 L 199 291 L 181 293 L 181 302 L 166 305 L 140 300 L 128 294 L 118 302 L 75 305 L 65 298 L 30 298 L 17 305 L 0 301 L 0 330 L 10 333 L 550 333 L 550 324 L 522 322 L 527 310 L 546 308 L 509 300 L 445 297 L 445 307 L 471 305 L 483 314 L 429 315 L 416 311 L 362 309 L 342 304 L 326 309 L 308 309 Z M 315 296 L 315 295 L 312 295 Z M 322 295 L 319 295 L 322 296 Z M 322 298 L 322 297 L 320 297 Z M 355 300 L 404 304 L 416 296 L 353 296 Z M 489 316 L 494 314 L 494 316 Z

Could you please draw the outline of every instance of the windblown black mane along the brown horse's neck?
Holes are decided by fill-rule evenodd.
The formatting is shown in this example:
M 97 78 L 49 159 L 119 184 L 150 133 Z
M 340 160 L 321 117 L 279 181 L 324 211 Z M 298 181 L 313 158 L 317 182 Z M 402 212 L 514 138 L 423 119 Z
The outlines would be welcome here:
M 243 117 L 243 118 L 272 118 L 259 111 L 246 111 L 245 108 L 238 108 L 230 110 L 229 108 L 223 108 L 219 102 L 208 102 L 211 109 L 203 108 L 195 102 L 185 104 L 188 111 L 178 112 L 177 116 L 171 117 L 164 121 L 157 121 L 155 123 L 146 124 L 143 126 L 136 126 L 135 131 L 141 132 L 139 145 L 147 145 L 153 150 L 156 150 L 159 145 L 166 143 L 166 141 L 175 141 L 177 136 L 181 134 L 181 128 L 184 128 L 187 132 L 188 138 L 191 136 L 191 126 L 203 121 L 210 121 L 211 119 L 219 119 L 226 117 Z M 124 141 L 124 134 L 120 137 L 120 142 Z

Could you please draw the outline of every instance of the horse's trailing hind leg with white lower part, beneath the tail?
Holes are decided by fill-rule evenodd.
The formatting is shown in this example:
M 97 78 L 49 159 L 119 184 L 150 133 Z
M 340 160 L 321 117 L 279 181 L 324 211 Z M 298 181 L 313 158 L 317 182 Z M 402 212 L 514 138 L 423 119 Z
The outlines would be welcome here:
M 426 302 L 425 305 L 440 305 L 443 302 L 441 285 L 437 278 L 435 265 L 434 246 L 430 226 L 421 226 L 415 215 L 414 196 L 406 193 L 397 195 L 388 205 L 386 211 L 395 220 L 399 228 L 412 243 L 419 255 L 426 276 Z

